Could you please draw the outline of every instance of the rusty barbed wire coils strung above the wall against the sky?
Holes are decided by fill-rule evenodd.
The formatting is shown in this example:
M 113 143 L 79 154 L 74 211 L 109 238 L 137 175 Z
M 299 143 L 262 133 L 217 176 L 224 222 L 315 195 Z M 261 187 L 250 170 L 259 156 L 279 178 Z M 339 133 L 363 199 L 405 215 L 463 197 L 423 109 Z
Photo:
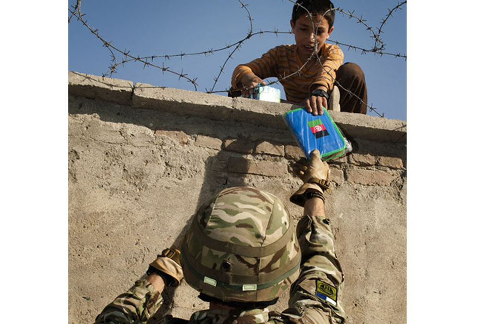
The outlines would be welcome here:
M 221 91 L 215 91 L 215 87 L 221 77 L 221 75 L 224 73 L 224 69 L 225 69 L 225 66 L 227 65 L 228 61 L 232 58 L 233 54 L 238 51 L 242 45 L 248 41 L 251 37 L 255 36 L 255 35 L 262 35 L 262 34 L 266 34 L 266 33 L 273 33 L 275 34 L 276 36 L 279 35 L 279 34 L 291 34 L 292 31 L 287 31 L 287 32 L 284 32 L 284 31 L 279 31 L 278 29 L 274 29 L 273 31 L 272 30 L 260 30 L 258 32 L 254 32 L 253 30 L 253 18 L 250 14 L 250 11 L 248 9 L 248 5 L 244 4 L 241 0 L 237 0 L 238 3 L 241 5 L 240 8 L 243 8 L 246 10 L 247 12 L 247 16 L 249 18 L 249 24 L 250 24 L 250 27 L 248 29 L 248 33 L 246 34 L 246 36 L 242 39 L 240 39 L 239 41 L 237 42 L 233 42 L 231 44 L 227 44 L 226 46 L 224 47 L 221 47 L 221 48 L 217 48 L 217 49 L 209 49 L 209 50 L 206 50 L 206 51 L 200 51 L 200 52 L 194 52 L 194 53 L 180 53 L 180 54 L 163 54 L 163 55 L 150 55 L 150 56 L 135 56 L 135 55 L 131 55 L 130 54 L 130 50 L 121 50 L 117 47 L 115 47 L 114 45 L 112 45 L 112 42 L 108 42 L 106 41 L 103 37 L 101 37 L 101 35 L 99 34 L 98 32 L 98 29 L 93 29 L 89 24 L 88 24 L 88 21 L 86 19 L 84 19 L 83 17 L 86 15 L 86 14 L 83 14 L 81 12 L 81 0 L 77 0 L 77 3 L 75 5 L 72 5 L 71 8 L 72 9 L 68 9 L 70 15 L 69 15 L 69 18 L 68 18 L 68 23 L 71 22 L 72 18 L 73 17 L 76 17 L 79 21 L 81 21 L 81 23 L 90 30 L 90 32 L 92 34 L 94 34 L 101 42 L 102 42 L 102 46 L 107 48 L 107 50 L 110 52 L 110 57 L 111 57 L 111 64 L 108 68 L 108 70 L 102 74 L 102 77 L 105 77 L 105 76 L 110 76 L 112 77 L 112 75 L 114 73 L 117 72 L 117 68 L 122 65 L 123 67 L 125 66 L 125 63 L 129 63 L 129 62 L 141 62 L 143 63 L 143 68 L 146 68 L 146 66 L 150 66 L 150 67 L 153 67 L 153 68 L 157 68 L 157 69 L 160 69 L 162 70 L 162 73 L 164 74 L 164 72 L 168 72 L 168 73 L 171 73 L 171 74 L 174 74 L 176 76 L 178 76 L 179 80 L 181 78 L 183 79 L 186 79 L 187 82 L 190 82 L 193 86 L 194 86 L 194 89 L 195 91 L 198 91 L 198 84 L 196 83 L 196 80 L 197 80 L 197 77 L 194 77 L 194 78 L 190 78 L 188 77 L 188 73 L 183 73 L 183 69 L 181 70 L 181 72 L 177 72 L 175 70 L 172 70 L 170 69 L 170 67 L 168 66 L 165 66 L 164 64 L 164 60 L 170 60 L 170 58 L 172 57 L 180 57 L 181 59 L 183 59 L 184 56 L 196 56 L 196 55 L 204 55 L 204 56 L 207 56 L 207 55 L 211 55 L 211 54 L 214 54 L 216 52 L 220 52 L 220 51 L 224 51 L 224 50 L 228 50 L 228 49 L 232 49 L 232 51 L 229 52 L 228 56 L 226 57 L 226 59 L 224 60 L 223 64 L 220 66 L 220 70 L 218 71 L 218 74 L 213 78 L 214 79 L 214 83 L 213 83 L 213 86 L 211 87 L 210 90 L 206 89 L 205 88 L 205 92 L 206 93 L 227 93 L 229 91 L 229 89 L 225 89 L 225 90 L 221 90 Z M 284 1 L 284 0 L 283 0 Z M 293 4 L 296 4 L 295 1 L 293 0 L 288 0 L 289 2 L 293 3 Z M 356 16 L 355 15 L 355 11 L 345 11 L 343 9 L 340 9 L 340 8 L 333 8 L 332 10 L 336 11 L 336 12 L 339 12 L 341 13 L 342 15 L 344 16 L 349 16 L 350 19 L 356 19 L 357 20 L 357 23 L 364 26 L 364 28 L 371 33 L 371 36 L 373 39 L 374 39 L 374 45 L 372 48 L 370 49 L 365 49 L 365 48 L 362 48 L 362 47 L 358 47 L 358 46 L 354 46 L 354 45 L 350 45 L 350 44 L 344 44 L 344 43 L 341 43 L 341 42 L 337 42 L 337 41 L 333 41 L 333 40 L 330 40 L 328 39 L 328 42 L 330 43 L 334 43 L 334 44 L 337 44 L 337 45 L 341 45 L 343 47 L 346 47 L 348 50 L 359 50 L 362 52 L 362 54 L 366 54 L 366 53 L 373 53 L 374 55 L 389 55 L 389 56 L 393 56 L 393 57 L 401 57 L 401 58 L 404 58 L 406 59 L 406 55 L 405 54 L 401 54 L 401 53 L 389 53 L 389 52 L 385 52 L 385 43 L 382 41 L 382 39 L 380 38 L 380 34 L 383 32 L 382 28 L 385 26 L 387 20 L 392 17 L 392 14 L 397 11 L 397 10 L 402 10 L 402 6 L 406 4 L 406 1 L 404 2 L 401 2 L 401 3 L 398 3 L 393 9 L 388 9 L 388 14 L 385 16 L 385 18 L 382 19 L 381 21 L 381 24 L 380 26 L 377 28 L 377 32 L 374 31 L 374 29 L 372 27 L 370 27 L 368 24 L 367 24 L 367 21 L 365 19 L 362 18 L 362 16 Z M 300 4 L 298 3 L 297 4 L 298 6 L 300 6 Z M 302 7 L 302 6 L 300 6 Z M 304 7 L 302 7 L 304 8 Z M 304 8 L 304 10 L 306 10 L 306 8 Z M 307 11 L 307 10 L 306 10 Z M 307 11 L 308 12 L 308 11 Z M 308 12 L 308 15 L 309 17 L 311 18 L 311 14 Z M 323 15 L 324 16 L 324 15 Z M 323 19 L 323 17 L 322 17 Z M 311 19 L 311 23 L 312 23 L 312 19 Z M 313 26 L 313 29 L 315 29 L 315 27 Z M 315 32 L 315 35 L 316 35 L 316 32 Z M 315 36 L 315 44 L 316 43 L 316 36 Z M 115 53 L 118 53 L 119 55 L 122 56 L 122 59 L 120 61 L 117 61 L 117 57 L 115 55 Z M 162 58 L 163 61 L 162 61 L 162 64 L 161 65 L 158 65 L 158 64 L 154 64 L 154 59 L 160 59 Z M 321 59 L 319 58 L 319 55 L 318 53 L 316 53 L 316 46 L 315 46 L 315 51 L 308 57 L 308 59 L 306 60 L 306 62 L 304 62 L 304 64 L 299 67 L 296 71 L 294 71 L 293 73 L 289 74 L 289 75 L 283 75 L 283 76 L 280 76 L 280 77 L 277 77 L 276 80 L 274 80 L 273 82 L 270 82 L 268 83 L 267 85 L 272 85 L 272 84 L 275 84 L 277 82 L 280 82 L 286 78 L 289 78 L 289 77 L 292 77 L 293 75 L 296 75 L 296 74 L 300 74 L 302 69 L 306 66 L 306 64 L 312 60 L 313 58 L 316 58 L 317 61 L 319 62 L 319 64 L 321 65 L 321 67 L 324 69 L 324 71 L 326 73 L 328 73 L 330 76 L 332 76 L 332 79 L 334 80 L 335 84 L 343 91 L 346 91 L 348 92 L 349 94 L 351 94 L 352 96 L 355 96 L 356 98 L 358 98 L 363 104 L 365 104 L 369 109 L 370 111 L 374 111 L 375 113 L 377 113 L 379 116 L 381 117 L 384 117 L 384 113 L 380 114 L 376 108 L 372 107 L 372 105 L 367 105 L 367 103 L 365 103 L 364 101 L 362 101 L 361 98 L 359 98 L 358 96 L 356 96 L 354 93 L 352 93 L 351 91 L 349 91 L 348 89 L 344 89 L 344 87 L 342 87 L 341 85 L 338 84 L 338 82 L 336 82 L 335 78 L 333 77 L 333 75 L 330 73 L 330 71 L 328 71 L 327 69 L 325 69 L 325 67 L 323 66 L 322 62 L 321 62 Z M 248 90 L 249 88 L 243 88 L 241 90 Z

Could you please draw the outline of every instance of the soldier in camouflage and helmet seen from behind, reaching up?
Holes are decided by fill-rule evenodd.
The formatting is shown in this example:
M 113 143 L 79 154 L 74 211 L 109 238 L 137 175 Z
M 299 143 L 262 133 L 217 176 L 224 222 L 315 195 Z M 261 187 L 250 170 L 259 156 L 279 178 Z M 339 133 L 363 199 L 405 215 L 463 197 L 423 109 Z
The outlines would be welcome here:
M 276 196 L 251 187 L 222 190 L 198 210 L 180 249 L 165 249 L 95 324 L 146 323 L 162 305 L 164 287 L 183 278 L 210 309 L 167 323 L 343 323 L 343 274 L 324 209 L 329 170 L 318 150 L 309 163 L 294 165 L 304 182 L 290 198 L 304 207 L 296 230 Z M 289 308 L 269 312 L 290 286 Z

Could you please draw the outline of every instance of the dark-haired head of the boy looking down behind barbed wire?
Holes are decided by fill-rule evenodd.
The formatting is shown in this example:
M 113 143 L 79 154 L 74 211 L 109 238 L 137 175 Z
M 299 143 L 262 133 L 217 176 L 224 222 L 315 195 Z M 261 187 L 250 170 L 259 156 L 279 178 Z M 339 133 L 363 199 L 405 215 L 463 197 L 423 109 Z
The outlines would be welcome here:
M 316 33 L 317 51 L 333 31 L 335 11 L 328 0 L 297 0 L 293 7 L 291 28 L 298 54 L 304 58 L 313 52 Z M 310 17 L 311 15 L 311 17 Z

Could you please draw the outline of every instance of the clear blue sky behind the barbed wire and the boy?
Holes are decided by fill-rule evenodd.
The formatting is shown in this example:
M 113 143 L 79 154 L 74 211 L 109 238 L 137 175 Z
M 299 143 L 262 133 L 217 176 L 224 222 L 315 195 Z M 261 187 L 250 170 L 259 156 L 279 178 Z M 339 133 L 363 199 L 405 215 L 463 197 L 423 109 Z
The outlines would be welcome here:
M 71 1 L 70 5 L 76 1 Z M 388 9 L 400 2 L 336 1 L 336 7 L 354 12 L 366 20 L 375 31 Z M 141 5 L 143 4 L 143 5 Z M 245 1 L 253 18 L 253 31 L 290 31 L 289 20 L 293 3 L 288 0 Z M 381 39 L 386 44 L 385 52 L 407 55 L 406 52 L 406 5 L 395 11 L 382 28 Z M 128 50 L 134 56 L 177 55 L 219 49 L 245 38 L 250 22 L 248 13 L 237 0 L 212 0 L 178 2 L 133 2 L 125 0 L 83 1 L 84 19 L 101 37 L 120 50 Z M 366 27 L 356 18 L 340 13 L 335 16 L 335 30 L 330 39 L 347 45 L 370 49 L 374 39 Z M 224 91 L 230 86 L 233 69 L 260 57 L 270 48 L 281 44 L 293 44 L 292 34 L 272 33 L 255 35 L 242 44 L 224 67 L 214 91 Z M 389 55 L 363 54 L 360 50 L 349 50 L 340 46 L 345 62 L 358 63 L 365 72 L 369 105 L 387 118 L 406 119 L 406 60 Z M 156 58 L 153 63 L 197 78 L 197 91 L 211 90 L 214 78 L 219 74 L 233 48 L 210 55 Z M 117 60 L 123 57 L 117 55 Z M 68 25 L 68 68 L 69 70 L 102 75 L 111 65 L 110 52 L 80 21 L 73 18 Z M 141 62 L 128 62 L 117 67 L 112 77 L 132 82 L 149 83 L 178 89 L 195 90 L 183 78 L 161 69 L 144 68 Z M 270 79 L 273 80 L 273 79 Z M 269 79 L 267 80 L 269 81 Z M 284 91 L 280 84 L 274 85 Z M 226 95 L 224 93 L 220 93 Z M 377 116 L 375 112 L 368 114 Z

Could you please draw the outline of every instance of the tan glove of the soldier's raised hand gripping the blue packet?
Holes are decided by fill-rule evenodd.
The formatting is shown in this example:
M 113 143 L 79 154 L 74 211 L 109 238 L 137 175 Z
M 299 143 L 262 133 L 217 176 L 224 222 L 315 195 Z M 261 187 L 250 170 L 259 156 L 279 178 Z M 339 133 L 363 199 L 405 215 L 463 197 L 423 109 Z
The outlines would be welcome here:
M 293 166 L 294 173 L 303 180 L 304 184 L 291 196 L 292 203 L 304 206 L 306 194 L 317 196 L 323 200 L 325 191 L 331 193 L 328 175 L 330 167 L 325 161 L 321 160 L 320 151 L 311 151 L 309 162 L 298 161 Z

